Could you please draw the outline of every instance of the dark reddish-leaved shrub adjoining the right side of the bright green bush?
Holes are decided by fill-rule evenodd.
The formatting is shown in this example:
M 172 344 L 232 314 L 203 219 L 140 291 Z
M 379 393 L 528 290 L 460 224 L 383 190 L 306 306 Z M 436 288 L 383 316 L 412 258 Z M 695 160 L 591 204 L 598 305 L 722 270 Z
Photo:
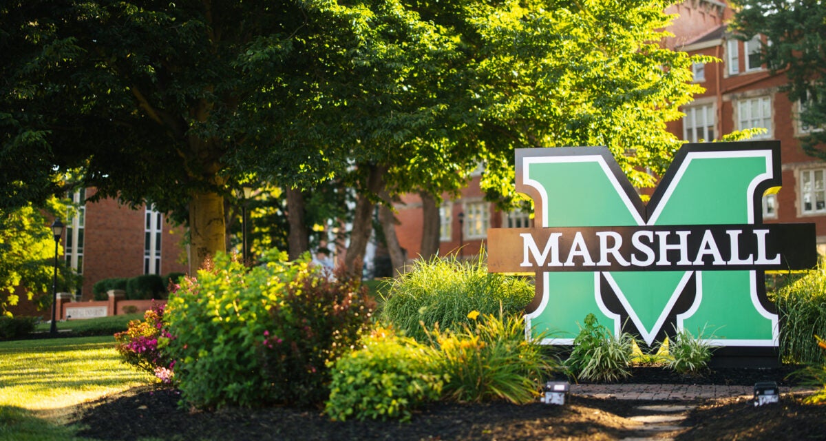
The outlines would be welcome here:
M 354 348 L 372 317 L 360 280 L 312 270 L 299 271 L 269 309 L 259 346 L 271 399 L 294 405 L 327 398 L 330 363 Z

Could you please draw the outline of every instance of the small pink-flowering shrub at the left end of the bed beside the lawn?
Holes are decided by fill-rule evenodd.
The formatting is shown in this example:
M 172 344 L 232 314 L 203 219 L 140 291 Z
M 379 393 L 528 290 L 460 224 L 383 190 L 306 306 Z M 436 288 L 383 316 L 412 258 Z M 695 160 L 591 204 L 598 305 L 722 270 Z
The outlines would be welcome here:
M 123 362 L 154 374 L 164 383 L 173 379 L 175 362 L 164 352 L 172 340 L 174 337 L 164 324 L 163 304 L 152 304 L 143 320 L 132 320 L 126 331 L 115 334 Z

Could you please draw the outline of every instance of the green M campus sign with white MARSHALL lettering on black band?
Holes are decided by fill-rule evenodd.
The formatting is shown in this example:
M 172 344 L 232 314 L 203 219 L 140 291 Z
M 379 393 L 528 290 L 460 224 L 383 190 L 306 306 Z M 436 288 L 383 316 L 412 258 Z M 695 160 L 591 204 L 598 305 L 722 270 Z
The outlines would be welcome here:
M 814 224 L 762 222 L 780 185 L 778 141 L 686 144 L 648 204 L 605 147 L 517 149 L 535 227 L 489 230 L 488 271 L 535 273 L 526 324 L 545 344 L 595 314 L 649 346 L 705 329 L 734 352 L 776 348 L 764 271 L 817 265 Z

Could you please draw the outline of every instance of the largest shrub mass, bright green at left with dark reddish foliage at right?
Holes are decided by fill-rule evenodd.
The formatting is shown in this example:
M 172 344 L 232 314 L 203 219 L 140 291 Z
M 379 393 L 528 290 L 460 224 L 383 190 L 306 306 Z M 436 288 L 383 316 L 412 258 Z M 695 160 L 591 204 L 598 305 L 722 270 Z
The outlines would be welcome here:
M 320 402 L 328 394 L 324 361 L 349 349 L 370 318 L 357 281 L 326 280 L 286 253 L 263 261 L 248 269 L 219 253 L 170 295 L 169 332 L 178 338 L 169 349 L 192 405 Z

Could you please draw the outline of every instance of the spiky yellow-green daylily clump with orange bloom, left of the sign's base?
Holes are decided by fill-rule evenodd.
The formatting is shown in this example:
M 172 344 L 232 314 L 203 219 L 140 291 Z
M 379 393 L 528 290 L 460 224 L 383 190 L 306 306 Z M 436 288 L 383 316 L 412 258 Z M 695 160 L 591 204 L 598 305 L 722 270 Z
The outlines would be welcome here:
M 434 328 L 434 363 L 449 378 L 443 395 L 459 402 L 535 400 L 544 380 L 557 367 L 539 345 L 543 336 L 525 338 L 525 319 L 468 314 L 472 324 L 454 333 Z

